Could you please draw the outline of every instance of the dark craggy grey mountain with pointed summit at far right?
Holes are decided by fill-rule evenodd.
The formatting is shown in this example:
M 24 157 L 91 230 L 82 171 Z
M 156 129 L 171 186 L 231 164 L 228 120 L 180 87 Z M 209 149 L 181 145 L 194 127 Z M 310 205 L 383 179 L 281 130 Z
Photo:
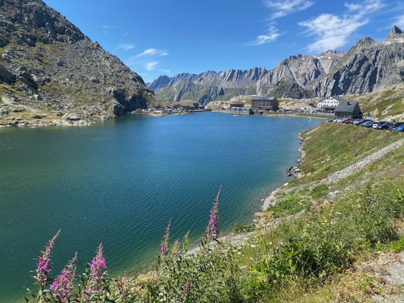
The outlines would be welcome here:
M 326 77 L 307 86 L 311 95 L 363 94 L 404 81 L 404 33 L 393 26 L 385 41 L 357 42 Z

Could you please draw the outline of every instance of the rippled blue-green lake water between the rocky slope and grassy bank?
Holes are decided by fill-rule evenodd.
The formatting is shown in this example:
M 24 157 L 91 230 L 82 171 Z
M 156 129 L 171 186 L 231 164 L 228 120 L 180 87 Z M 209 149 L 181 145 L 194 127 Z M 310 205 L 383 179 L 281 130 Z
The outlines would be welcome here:
M 98 244 L 110 275 L 150 264 L 171 239 L 197 242 L 220 185 L 219 232 L 251 222 L 260 199 L 287 182 L 298 132 L 321 123 L 199 113 L 136 114 L 90 127 L 0 128 L 0 301 L 22 301 L 47 241 L 61 229 L 55 270 Z

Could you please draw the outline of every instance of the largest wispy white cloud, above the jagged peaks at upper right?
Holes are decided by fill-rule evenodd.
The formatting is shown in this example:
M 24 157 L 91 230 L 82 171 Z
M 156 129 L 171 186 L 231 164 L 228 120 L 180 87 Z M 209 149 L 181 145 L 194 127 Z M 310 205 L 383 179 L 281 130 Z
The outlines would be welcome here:
M 307 27 L 310 35 L 317 39 L 307 46 L 309 52 L 320 53 L 336 49 L 348 43 L 349 36 L 369 23 L 370 16 L 381 10 L 383 0 L 366 0 L 357 4 L 345 3 L 347 11 L 342 15 L 321 14 L 313 19 L 299 22 Z

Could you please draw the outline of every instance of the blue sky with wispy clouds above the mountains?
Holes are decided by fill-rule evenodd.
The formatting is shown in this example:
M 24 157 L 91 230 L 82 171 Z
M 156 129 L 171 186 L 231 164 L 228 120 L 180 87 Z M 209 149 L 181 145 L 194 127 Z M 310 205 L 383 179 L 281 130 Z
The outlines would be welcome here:
M 295 54 L 347 51 L 404 29 L 394 0 L 45 0 L 145 82 L 207 70 L 271 69 Z

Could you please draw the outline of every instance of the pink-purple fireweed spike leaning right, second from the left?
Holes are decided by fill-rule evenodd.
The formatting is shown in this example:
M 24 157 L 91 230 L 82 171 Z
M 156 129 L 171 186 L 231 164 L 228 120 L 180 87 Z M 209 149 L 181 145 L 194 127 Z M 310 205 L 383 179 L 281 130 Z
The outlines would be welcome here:
M 69 292 L 73 290 L 73 281 L 76 275 L 76 265 L 74 262 L 77 260 L 77 252 L 74 258 L 70 260 L 69 264 L 62 270 L 61 274 L 54 280 L 51 285 L 51 292 L 66 302 L 68 300 Z

